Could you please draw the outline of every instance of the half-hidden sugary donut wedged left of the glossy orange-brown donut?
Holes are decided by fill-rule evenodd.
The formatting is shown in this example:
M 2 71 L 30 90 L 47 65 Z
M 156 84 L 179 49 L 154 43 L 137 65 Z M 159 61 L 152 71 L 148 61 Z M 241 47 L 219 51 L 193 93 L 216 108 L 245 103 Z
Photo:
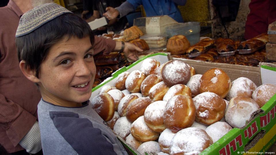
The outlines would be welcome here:
M 201 74 L 196 74 L 191 76 L 189 82 L 187 83 L 187 86 L 191 89 L 192 92 L 192 98 L 197 96 L 199 93 L 200 88 L 200 78 L 202 77 Z

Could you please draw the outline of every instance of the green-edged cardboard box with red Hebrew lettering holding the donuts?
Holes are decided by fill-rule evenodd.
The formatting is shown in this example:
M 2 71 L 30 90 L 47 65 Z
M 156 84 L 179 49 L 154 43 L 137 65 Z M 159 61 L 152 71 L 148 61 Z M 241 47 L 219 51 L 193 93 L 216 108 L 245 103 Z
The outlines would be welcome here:
M 104 81 L 100 85 L 92 89 L 92 95 L 90 100 L 96 96 L 100 88 L 106 84 L 114 85 L 116 77 L 124 72 L 131 72 L 133 70 L 139 69 L 142 61 L 146 58 L 153 58 L 160 62 L 160 64 L 165 63 L 169 60 L 172 60 L 170 53 L 156 53 L 147 55 L 142 59 L 136 61 L 128 67 L 123 67 L 116 71 L 111 78 Z M 179 58 L 173 58 L 179 59 Z M 189 59 L 181 59 L 185 63 L 191 65 L 196 69 L 196 74 L 203 74 L 208 69 L 217 67 L 225 71 L 231 81 L 239 78 L 246 77 L 252 80 L 257 86 L 262 84 L 261 75 L 266 75 L 261 69 L 268 69 L 275 71 L 276 66 L 271 67 L 271 64 L 260 63 L 260 67 L 250 67 L 250 66 L 241 66 L 241 65 L 230 65 L 225 63 L 212 63 L 212 62 L 203 62 Z M 269 66 L 269 67 L 267 67 Z M 270 78 L 271 79 L 271 78 Z M 230 155 L 230 154 L 246 154 L 246 151 L 251 152 L 264 152 L 269 149 L 269 147 L 276 141 L 276 94 L 260 109 L 255 111 L 251 119 L 246 123 L 241 129 L 233 128 L 226 135 L 221 137 L 217 142 L 205 149 L 201 154 L 210 154 L 210 155 Z M 137 150 L 133 149 L 129 144 L 122 138 L 118 138 L 124 147 L 128 150 L 129 154 L 138 154 Z M 155 154 L 155 153 L 150 153 Z M 252 153 L 249 153 L 252 154 Z

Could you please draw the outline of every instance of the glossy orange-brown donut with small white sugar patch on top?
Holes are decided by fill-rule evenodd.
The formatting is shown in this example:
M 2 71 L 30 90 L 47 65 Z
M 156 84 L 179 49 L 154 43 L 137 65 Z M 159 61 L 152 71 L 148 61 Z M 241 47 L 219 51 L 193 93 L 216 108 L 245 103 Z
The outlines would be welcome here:
M 213 92 L 221 98 L 225 98 L 230 88 L 231 80 L 222 69 L 209 69 L 200 78 L 200 93 Z

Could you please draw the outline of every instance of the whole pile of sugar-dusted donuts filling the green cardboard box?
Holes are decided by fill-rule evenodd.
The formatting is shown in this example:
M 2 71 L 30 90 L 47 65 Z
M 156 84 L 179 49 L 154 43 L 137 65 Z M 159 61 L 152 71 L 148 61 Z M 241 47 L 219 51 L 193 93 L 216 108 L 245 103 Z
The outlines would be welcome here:
M 141 154 L 200 154 L 232 127 L 246 125 L 275 93 L 273 84 L 231 82 L 219 68 L 200 75 L 181 60 L 160 65 L 147 58 L 139 70 L 121 73 L 115 86 L 103 86 L 91 104 Z

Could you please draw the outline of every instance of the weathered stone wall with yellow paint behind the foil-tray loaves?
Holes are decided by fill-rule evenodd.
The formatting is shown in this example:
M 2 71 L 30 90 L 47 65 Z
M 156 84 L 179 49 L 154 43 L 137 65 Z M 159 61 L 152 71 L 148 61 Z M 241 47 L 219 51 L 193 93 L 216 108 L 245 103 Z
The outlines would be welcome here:
M 226 22 L 225 26 L 229 33 L 229 38 L 233 40 L 244 40 L 244 30 L 246 17 L 250 11 L 248 5 L 251 0 L 241 0 L 236 21 Z M 179 6 L 181 15 L 185 22 L 198 21 L 201 26 L 211 28 L 209 36 L 212 38 L 227 38 L 227 33 L 218 17 L 216 8 L 212 5 L 212 0 L 187 0 L 185 6 Z

